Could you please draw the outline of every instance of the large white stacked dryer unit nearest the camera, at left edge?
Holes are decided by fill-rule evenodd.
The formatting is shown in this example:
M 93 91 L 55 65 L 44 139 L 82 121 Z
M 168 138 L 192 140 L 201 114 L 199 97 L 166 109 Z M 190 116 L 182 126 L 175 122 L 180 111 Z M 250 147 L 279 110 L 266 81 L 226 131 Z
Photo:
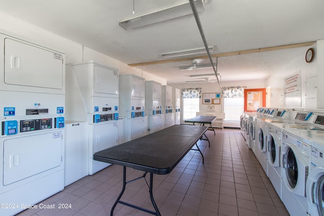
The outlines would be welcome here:
M 64 188 L 65 54 L 0 40 L 0 211 L 13 215 Z

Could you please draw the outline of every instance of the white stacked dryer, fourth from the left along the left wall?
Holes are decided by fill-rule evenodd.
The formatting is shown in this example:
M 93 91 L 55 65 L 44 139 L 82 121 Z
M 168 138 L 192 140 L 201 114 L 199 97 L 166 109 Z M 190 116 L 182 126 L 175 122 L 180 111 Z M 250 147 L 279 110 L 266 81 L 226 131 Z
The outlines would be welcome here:
M 145 81 L 145 112 L 148 115 L 149 133 L 162 129 L 161 91 L 161 83 L 155 81 Z

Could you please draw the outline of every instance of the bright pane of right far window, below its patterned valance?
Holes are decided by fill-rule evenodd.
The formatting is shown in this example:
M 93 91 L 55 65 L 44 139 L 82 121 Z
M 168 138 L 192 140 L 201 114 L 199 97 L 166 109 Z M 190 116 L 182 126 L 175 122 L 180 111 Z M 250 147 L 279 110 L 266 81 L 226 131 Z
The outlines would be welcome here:
M 244 98 L 224 98 L 225 121 L 239 121 L 244 110 Z

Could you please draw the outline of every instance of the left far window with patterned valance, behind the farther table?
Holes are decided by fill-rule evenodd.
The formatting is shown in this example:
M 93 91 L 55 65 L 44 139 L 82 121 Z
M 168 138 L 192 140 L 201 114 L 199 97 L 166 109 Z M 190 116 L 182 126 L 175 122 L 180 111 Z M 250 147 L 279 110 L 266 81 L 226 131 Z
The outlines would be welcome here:
M 183 100 L 183 119 L 196 117 L 196 112 L 199 112 L 201 88 L 182 89 L 181 98 Z

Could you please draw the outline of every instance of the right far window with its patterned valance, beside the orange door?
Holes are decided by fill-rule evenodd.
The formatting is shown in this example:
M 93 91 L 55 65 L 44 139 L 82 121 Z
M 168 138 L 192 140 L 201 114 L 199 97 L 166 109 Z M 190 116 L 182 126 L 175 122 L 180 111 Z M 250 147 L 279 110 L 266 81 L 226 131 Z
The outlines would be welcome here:
M 225 121 L 239 121 L 244 112 L 244 89 L 247 87 L 225 87 L 222 88 L 224 99 Z

